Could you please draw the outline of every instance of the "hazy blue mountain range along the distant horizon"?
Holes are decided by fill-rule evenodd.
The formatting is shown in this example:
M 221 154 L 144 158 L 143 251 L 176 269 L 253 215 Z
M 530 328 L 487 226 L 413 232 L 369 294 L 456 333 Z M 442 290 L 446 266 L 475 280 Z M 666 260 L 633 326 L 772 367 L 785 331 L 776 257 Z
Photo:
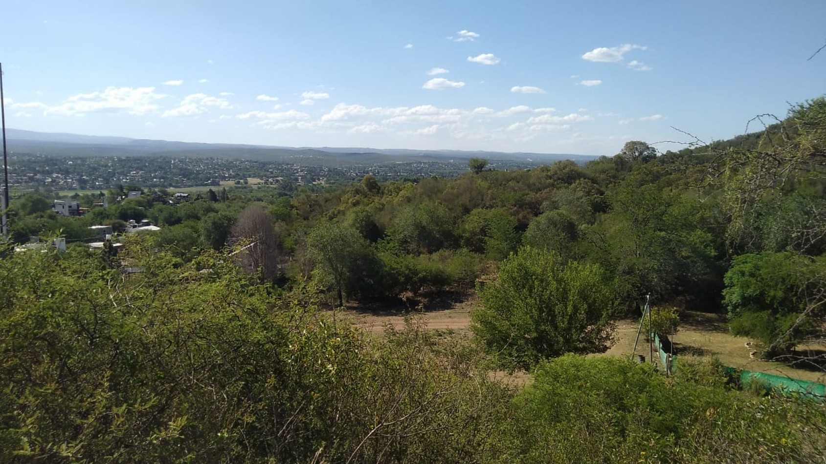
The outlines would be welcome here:
M 445 161 L 473 157 L 548 163 L 571 159 L 585 163 L 594 156 L 583 154 L 505 153 L 496 151 L 372 149 L 362 147 L 283 147 L 248 144 L 202 144 L 168 140 L 130 139 L 99 135 L 77 135 L 31 130 L 7 129 L 7 146 L 12 153 L 37 153 L 53 156 L 192 156 L 199 158 L 256 159 L 287 161 L 312 159 L 324 163 L 382 163 L 401 161 Z

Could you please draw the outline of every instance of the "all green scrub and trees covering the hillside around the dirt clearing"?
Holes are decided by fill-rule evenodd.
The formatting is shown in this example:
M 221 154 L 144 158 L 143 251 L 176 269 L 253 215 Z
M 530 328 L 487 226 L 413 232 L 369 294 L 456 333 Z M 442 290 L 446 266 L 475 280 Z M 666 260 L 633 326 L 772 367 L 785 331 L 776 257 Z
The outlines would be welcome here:
M 728 311 L 766 357 L 822 341 L 824 115 L 806 102 L 746 145 L 292 196 L 147 190 L 79 218 L 28 193 L 15 239 L 70 244 L 0 250 L 0 461 L 822 461 L 822 404 L 738 391 L 707 361 L 666 378 L 582 353 L 645 295 Z M 144 218 L 161 230 L 118 253 L 83 244 Z M 415 317 L 374 338 L 326 311 L 474 286 L 472 340 Z

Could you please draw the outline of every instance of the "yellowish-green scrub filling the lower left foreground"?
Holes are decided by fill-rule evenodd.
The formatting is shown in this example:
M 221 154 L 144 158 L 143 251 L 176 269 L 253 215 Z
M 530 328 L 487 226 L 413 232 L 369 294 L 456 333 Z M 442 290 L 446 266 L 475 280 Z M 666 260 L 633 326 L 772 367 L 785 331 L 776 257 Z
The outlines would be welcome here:
M 414 323 L 368 343 L 227 255 L 140 238 L 126 275 L 78 249 L 0 261 L 2 462 L 458 462 L 505 389 Z M 497 406 L 499 405 L 499 406 Z M 434 455 L 432 450 L 439 449 Z M 471 458 L 468 458 L 471 457 Z

